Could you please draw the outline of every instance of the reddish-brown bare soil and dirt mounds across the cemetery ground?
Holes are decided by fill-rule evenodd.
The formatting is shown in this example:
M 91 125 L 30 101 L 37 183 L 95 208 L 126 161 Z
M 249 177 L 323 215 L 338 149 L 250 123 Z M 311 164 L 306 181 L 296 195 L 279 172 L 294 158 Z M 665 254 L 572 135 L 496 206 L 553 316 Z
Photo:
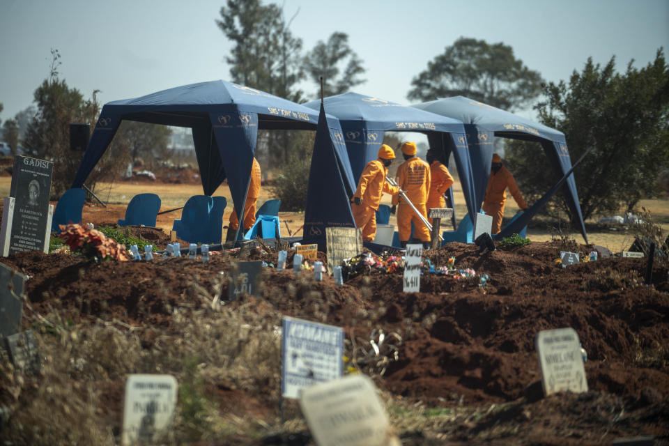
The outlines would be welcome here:
M 129 188 L 133 192 L 126 192 L 126 186 L 130 187 L 120 185 L 112 190 L 129 201 L 131 193 L 139 191 Z M 174 187 L 178 192 L 171 190 Z M 176 197 L 181 193 L 184 197 L 193 194 L 185 185 L 142 183 L 139 187 L 141 192 L 157 188 L 162 188 L 161 197 L 174 193 L 174 201 L 166 200 L 168 206 L 178 203 Z M 666 203 L 657 207 L 666 207 Z M 113 223 L 123 216 L 123 209 L 123 204 L 87 206 L 84 222 L 95 226 Z M 282 220 L 291 218 L 279 215 Z M 292 218 L 297 220 L 295 226 L 302 224 L 299 215 Z M 164 229 L 171 227 L 171 220 L 159 221 L 162 229 L 136 231 L 162 248 L 169 243 Z M 591 233 L 590 241 L 613 252 L 626 249 L 622 238 L 614 239 L 623 247 L 619 248 L 606 243 L 611 239 L 605 235 L 608 232 L 602 238 Z M 564 236 L 551 240 L 548 235 L 541 240 L 540 231 L 532 229 L 528 237 L 533 242 L 529 246 L 485 254 L 479 254 L 474 245 L 460 243 L 424 252 L 424 259 L 433 266 L 445 266 L 454 257 L 456 268 L 489 275 L 485 286 L 479 286 L 478 279 L 462 280 L 426 269 L 421 292 L 402 293 L 401 272 L 358 264 L 344 286 L 337 286 L 330 277 L 314 282 L 308 272 L 295 276 L 269 266 L 263 272 L 260 295 L 228 302 L 226 307 L 341 326 L 349 350 L 351 341 L 360 344 L 369 340 L 375 329 L 400 334 L 399 359 L 385 364 L 383 376 L 380 368 L 364 371 L 375 377 L 405 445 L 610 445 L 638 436 L 651 436 L 655 438 L 652 444 L 668 445 L 666 261 L 655 263 L 652 283 L 646 285 L 646 259 L 604 259 L 604 252 L 600 252 L 597 261 L 561 268 L 555 263 L 561 250 L 583 256 L 593 246 Z M 625 237 L 630 237 L 629 233 Z M 114 321 L 116 326 L 135 328 L 141 345 L 148 349 L 160 345 L 165 336 L 180 337 L 174 309 L 206 307 L 201 290 L 215 289 L 220 271 L 228 272 L 237 255 L 223 252 L 208 263 L 180 258 L 97 265 L 77 256 L 26 252 L 0 261 L 30 277 L 25 293 L 36 312 L 59 312 L 74 324 Z M 276 256 L 256 250 L 250 259 L 275 264 Z M 319 258 L 325 260 L 325 253 L 319 253 Z M 291 262 L 292 253 L 289 265 Z M 222 300 L 226 295 L 224 282 Z M 535 335 L 562 327 L 574 328 L 587 351 L 585 371 L 590 390 L 544 398 Z M 210 365 L 205 362 L 199 367 L 206 370 Z M 276 426 L 276 378 L 247 388 L 239 380 L 206 381 L 207 393 L 219 412 Z M 118 432 L 123 381 L 105 378 L 100 372 L 95 385 L 102 386 L 101 399 L 107 401 L 100 406 L 100 416 Z M 7 392 L 0 392 L 0 397 L 3 401 L 12 399 Z M 19 406 L 29 407 L 29 398 L 29 392 L 22 394 Z M 419 424 L 406 422 L 408 408 L 421 408 Z M 293 406 L 293 415 L 295 410 Z M 292 432 L 290 427 L 283 429 L 275 436 L 230 433 L 197 444 L 314 444 L 308 434 L 295 436 L 305 433 L 303 425 Z

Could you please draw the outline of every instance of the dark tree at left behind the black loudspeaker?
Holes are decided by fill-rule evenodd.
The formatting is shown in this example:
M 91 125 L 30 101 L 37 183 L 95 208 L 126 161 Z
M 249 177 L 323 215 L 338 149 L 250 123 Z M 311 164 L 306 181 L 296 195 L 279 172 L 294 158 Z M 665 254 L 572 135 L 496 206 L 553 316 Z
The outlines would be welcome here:
M 82 158 L 82 152 L 70 151 L 70 123 L 89 123 L 93 128 L 100 105 L 97 91 L 91 99 L 84 100 L 82 93 L 70 89 L 64 79 L 59 79 L 61 56 L 57 49 L 51 53 L 49 78 L 34 93 L 37 112 L 28 124 L 24 148 L 27 155 L 54 162 L 51 198 L 58 199 L 72 184 Z M 95 165 L 86 185 L 95 190 L 98 181 L 116 178 L 127 160 L 127 152 L 122 148 L 108 150 Z

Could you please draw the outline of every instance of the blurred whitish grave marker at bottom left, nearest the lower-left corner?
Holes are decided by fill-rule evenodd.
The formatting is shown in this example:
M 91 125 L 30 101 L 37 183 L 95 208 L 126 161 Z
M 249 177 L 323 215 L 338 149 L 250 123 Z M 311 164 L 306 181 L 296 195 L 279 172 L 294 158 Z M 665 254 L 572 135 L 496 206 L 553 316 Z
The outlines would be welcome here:
M 174 417 L 177 386 L 171 375 L 128 376 L 121 444 L 151 443 L 167 433 Z

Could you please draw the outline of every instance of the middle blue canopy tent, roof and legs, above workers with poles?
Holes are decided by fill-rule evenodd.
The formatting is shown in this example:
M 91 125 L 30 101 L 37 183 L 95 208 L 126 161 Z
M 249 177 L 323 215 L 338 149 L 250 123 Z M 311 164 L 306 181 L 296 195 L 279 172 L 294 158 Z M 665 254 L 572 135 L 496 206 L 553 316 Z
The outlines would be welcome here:
M 467 209 L 473 217 L 476 209 L 472 170 L 461 121 L 359 93 L 334 95 L 324 101 L 325 110 L 339 118 L 341 130 L 344 130 L 346 152 L 356 182 L 367 163 L 376 160 L 384 132 L 422 132 L 427 135 L 432 148 L 443 152 L 445 162 L 451 152 L 454 153 Z M 320 104 L 321 101 L 316 100 L 305 106 L 318 109 Z M 452 203 L 452 190 L 449 193 Z

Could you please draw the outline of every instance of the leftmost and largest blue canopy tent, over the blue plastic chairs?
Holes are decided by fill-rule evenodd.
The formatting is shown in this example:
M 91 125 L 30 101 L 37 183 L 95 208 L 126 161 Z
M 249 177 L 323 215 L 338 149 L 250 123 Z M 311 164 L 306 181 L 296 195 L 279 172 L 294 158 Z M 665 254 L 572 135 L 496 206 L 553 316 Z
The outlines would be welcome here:
M 72 187 L 82 187 L 123 119 L 191 128 L 204 194 L 213 194 L 227 178 L 234 210 L 240 215 L 258 130 L 316 130 L 318 112 L 223 80 L 109 102 L 102 107 Z M 327 124 L 341 132 L 336 118 L 328 117 Z M 353 195 L 355 183 L 348 157 L 343 148 L 334 155 L 344 187 Z

